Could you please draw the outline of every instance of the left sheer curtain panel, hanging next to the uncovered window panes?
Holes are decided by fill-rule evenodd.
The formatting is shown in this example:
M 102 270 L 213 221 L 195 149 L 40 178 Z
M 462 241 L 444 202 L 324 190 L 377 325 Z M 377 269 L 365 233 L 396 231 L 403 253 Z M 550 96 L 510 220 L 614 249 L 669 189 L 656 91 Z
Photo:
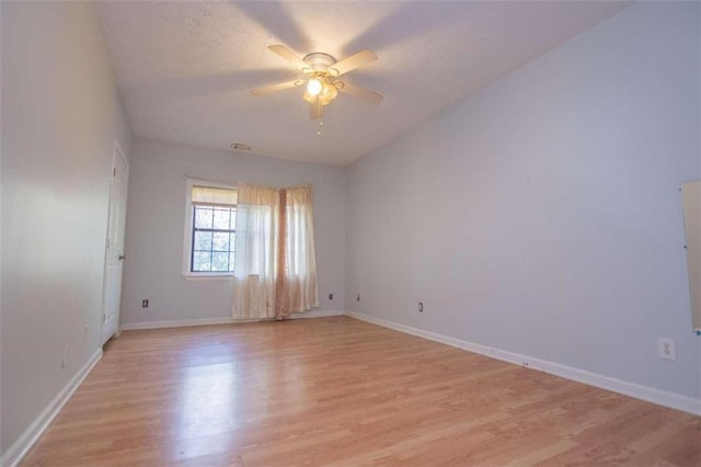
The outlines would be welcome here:
M 275 317 L 279 192 L 267 186 L 237 186 L 234 319 Z

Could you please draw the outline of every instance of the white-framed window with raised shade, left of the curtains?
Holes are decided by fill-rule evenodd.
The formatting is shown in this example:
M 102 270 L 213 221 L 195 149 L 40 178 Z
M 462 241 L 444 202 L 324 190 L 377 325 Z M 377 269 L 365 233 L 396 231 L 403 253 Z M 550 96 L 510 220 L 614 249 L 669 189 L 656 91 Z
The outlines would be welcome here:
M 233 272 L 237 191 L 188 180 L 183 273 L 220 276 Z

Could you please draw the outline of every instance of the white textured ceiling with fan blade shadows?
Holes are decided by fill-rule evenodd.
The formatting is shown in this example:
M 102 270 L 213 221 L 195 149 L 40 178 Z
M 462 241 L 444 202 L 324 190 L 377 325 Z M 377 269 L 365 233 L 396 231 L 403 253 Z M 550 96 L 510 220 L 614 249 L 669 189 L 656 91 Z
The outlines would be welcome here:
M 97 14 L 136 135 L 347 164 L 628 4 L 110 1 Z M 249 93 L 300 76 L 273 44 L 338 60 L 372 49 L 379 60 L 345 77 L 384 100 L 341 94 L 318 136 L 302 88 Z

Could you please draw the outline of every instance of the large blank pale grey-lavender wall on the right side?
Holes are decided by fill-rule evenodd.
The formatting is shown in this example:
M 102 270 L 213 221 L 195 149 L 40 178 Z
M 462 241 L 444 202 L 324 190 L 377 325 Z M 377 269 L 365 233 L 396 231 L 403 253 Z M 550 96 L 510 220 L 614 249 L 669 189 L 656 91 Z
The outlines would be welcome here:
M 700 399 L 699 37 L 635 4 L 350 166 L 346 309 Z

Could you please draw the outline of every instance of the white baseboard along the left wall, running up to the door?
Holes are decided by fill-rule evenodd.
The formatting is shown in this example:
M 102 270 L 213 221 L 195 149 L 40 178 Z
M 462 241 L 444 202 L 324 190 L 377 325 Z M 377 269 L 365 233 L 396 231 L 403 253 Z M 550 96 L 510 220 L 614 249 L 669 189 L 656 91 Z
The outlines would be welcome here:
M 39 436 L 44 433 L 44 431 L 51 423 L 54 418 L 58 414 L 58 412 L 64 408 L 68 399 L 76 392 L 76 389 L 80 386 L 80 384 L 85 379 L 85 376 L 90 374 L 92 368 L 97 364 L 97 362 L 102 358 L 102 349 L 97 349 L 97 351 L 90 357 L 90 360 L 83 365 L 82 368 L 68 381 L 68 384 L 61 389 L 58 395 L 50 401 L 48 406 L 39 413 L 39 415 L 32 422 L 30 428 L 27 428 L 24 433 L 18 438 L 18 441 L 10 446 L 10 448 L 2 455 L 0 459 L 0 465 L 5 467 L 14 467 L 20 464 L 20 460 L 28 453 L 28 451 L 34 446 L 34 443 L 39 438 Z

